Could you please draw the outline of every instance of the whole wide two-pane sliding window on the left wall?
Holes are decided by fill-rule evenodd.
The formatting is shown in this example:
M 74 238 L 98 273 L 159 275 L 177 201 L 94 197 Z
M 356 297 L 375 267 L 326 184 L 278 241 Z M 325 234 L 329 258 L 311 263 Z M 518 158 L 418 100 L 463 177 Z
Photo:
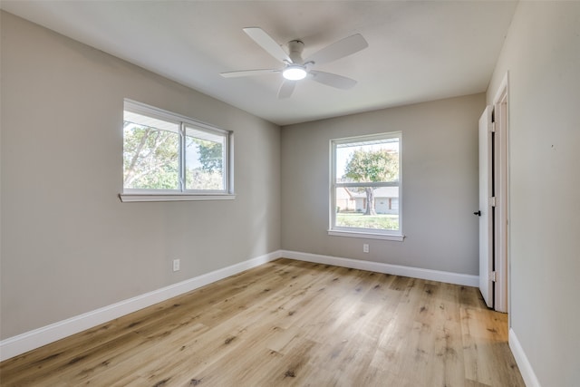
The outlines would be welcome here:
M 125 101 L 123 201 L 233 198 L 231 133 Z

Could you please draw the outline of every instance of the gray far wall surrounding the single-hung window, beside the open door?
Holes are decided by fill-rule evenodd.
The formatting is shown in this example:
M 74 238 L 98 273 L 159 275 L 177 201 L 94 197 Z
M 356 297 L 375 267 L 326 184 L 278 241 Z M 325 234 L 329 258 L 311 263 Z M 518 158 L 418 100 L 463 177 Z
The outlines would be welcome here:
M 284 127 L 283 248 L 477 276 L 484 107 L 477 94 Z M 329 141 L 388 131 L 402 131 L 404 241 L 328 236 Z

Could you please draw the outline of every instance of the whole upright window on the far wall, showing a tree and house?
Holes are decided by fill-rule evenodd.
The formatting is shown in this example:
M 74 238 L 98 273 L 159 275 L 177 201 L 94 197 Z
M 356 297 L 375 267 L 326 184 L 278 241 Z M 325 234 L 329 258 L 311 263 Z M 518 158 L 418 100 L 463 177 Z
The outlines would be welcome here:
M 401 132 L 331 141 L 330 235 L 402 240 Z

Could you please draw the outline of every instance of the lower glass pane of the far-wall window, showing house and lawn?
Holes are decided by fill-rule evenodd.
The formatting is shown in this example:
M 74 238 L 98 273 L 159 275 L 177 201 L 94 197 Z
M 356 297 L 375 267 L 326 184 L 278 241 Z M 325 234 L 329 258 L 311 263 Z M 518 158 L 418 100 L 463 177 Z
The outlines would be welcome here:
M 338 187 L 335 195 L 335 227 L 399 230 L 399 187 Z

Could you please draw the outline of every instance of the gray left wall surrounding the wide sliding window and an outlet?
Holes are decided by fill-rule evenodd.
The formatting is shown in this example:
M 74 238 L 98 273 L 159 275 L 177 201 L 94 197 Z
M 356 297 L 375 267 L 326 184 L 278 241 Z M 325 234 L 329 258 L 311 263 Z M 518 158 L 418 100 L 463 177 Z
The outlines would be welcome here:
M 1 64 L 1 338 L 280 248 L 279 127 L 4 12 Z M 234 131 L 236 200 L 121 203 L 123 98 Z

